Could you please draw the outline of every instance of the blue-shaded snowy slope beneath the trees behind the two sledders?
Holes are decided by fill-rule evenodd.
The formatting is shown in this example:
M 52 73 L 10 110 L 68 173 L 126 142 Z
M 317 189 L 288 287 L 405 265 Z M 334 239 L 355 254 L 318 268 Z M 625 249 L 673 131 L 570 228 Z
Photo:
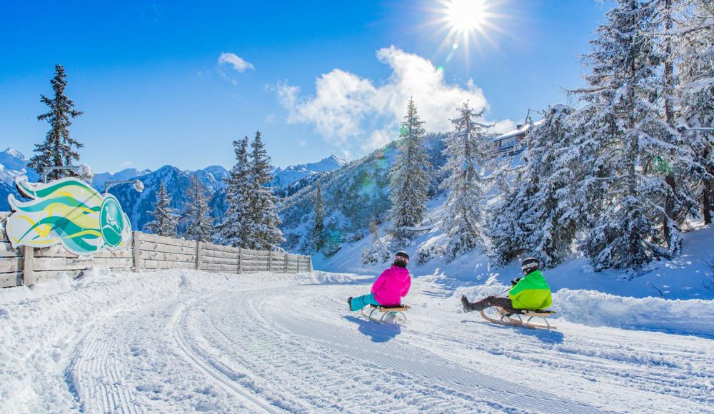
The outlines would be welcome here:
M 463 255 L 451 263 L 445 263 L 443 257 L 438 256 L 438 246 L 443 246 L 446 241 L 440 227 L 446 212 L 445 201 L 443 196 L 431 200 L 428 218 L 423 225 L 432 228 L 414 238 L 411 246 L 404 248 L 413 258 L 411 272 L 418 276 L 440 276 L 449 279 L 449 283 L 455 286 L 498 286 L 503 287 L 503 291 L 513 278 L 520 276 L 518 261 L 503 268 L 492 268 L 488 258 L 478 252 Z M 384 238 L 385 234 L 386 226 L 381 226 L 379 235 Z M 595 272 L 586 258 L 573 256 L 560 266 L 545 271 L 545 277 L 553 291 L 578 289 L 634 298 L 712 299 L 714 292 L 708 291 L 704 283 L 714 283 L 714 269 L 708 264 L 708 258 L 714 258 L 711 250 L 714 228 L 698 226 L 683 233 L 683 238 L 680 256 L 650 263 L 640 276 L 631 277 L 624 271 L 614 270 Z M 362 250 L 375 241 L 376 236 L 370 235 L 354 243 L 345 243 L 332 257 L 314 256 L 314 265 L 324 271 L 375 273 L 385 264 L 363 266 L 361 263 Z M 419 263 L 418 251 L 431 251 L 433 257 L 426 263 Z

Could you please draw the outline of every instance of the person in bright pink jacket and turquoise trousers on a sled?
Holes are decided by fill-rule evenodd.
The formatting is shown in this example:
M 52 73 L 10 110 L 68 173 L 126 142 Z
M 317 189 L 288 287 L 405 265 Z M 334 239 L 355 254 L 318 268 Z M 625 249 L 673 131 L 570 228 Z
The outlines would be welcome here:
M 355 312 L 367 305 L 399 306 L 401 298 L 409 293 L 409 288 L 411 287 L 411 276 L 409 276 L 409 271 L 406 269 L 408 264 L 409 255 L 406 252 L 400 251 L 396 253 L 392 267 L 383 271 L 374 281 L 372 293 L 347 299 L 350 310 Z

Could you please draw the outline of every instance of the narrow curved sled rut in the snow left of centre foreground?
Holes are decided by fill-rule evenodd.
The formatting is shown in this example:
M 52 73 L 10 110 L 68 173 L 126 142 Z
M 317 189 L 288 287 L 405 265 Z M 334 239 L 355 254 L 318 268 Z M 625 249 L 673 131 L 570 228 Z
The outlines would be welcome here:
M 174 315 L 173 332 L 176 345 L 178 345 L 178 348 L 186 356 L 186 359 L 191 361 L 193 365 L 196 365 L 196 368 L 203 371 L 208 378 L 225 388 L 228 393 L 233 394 L 236 398 L 238 398 L 238 400 L 245 403 L 251 411 L 278 413 L 278 410 L 276 410 L 276 408 L 272 405 L 257 398 L 249 391 L 244 390 L 240 385 L 236 384 L 231 379 L 231 371 L 228 368 L 221 366 L 221 364 L 216 360 L 211 360 L 210 363 L 207 363 L 206 360 L 201 357 L 202 352 L 198 349 L 198 347 L 196 347 L 195 344 L 193 344 L 195 348 L 188 345 L 186 336 L 183 332 L 183 322 L 185 317 L 186 306 L 181 305 L 176 310 L 176 315 Z

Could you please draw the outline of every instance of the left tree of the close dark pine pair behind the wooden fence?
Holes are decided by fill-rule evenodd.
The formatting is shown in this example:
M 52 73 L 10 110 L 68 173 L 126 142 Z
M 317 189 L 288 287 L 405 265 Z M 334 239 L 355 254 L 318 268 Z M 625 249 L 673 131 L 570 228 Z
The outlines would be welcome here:
M 251 164 L 248 162 L 248 137 L 233 141 L 236 165 L 231 168 L 226 186 L 228 208 L 218 224 L 216 243 L 233 247 L 245 247 L 248 223 L 252 220 L 250 195 L 253 189 Z

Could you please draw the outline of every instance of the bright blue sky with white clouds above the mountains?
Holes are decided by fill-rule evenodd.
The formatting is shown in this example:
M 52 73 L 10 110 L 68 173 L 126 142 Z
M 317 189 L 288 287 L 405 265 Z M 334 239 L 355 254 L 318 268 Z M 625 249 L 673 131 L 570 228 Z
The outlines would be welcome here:
M 44 139 L 56 63 L 95 171 L 229 167 L 231 141 L 258 129 L 276 166 L 356 158 L 396 138 L 409 96 L 430 131 L 464 99 L 498 128 L 567 102 L 606 6 L 484 1 L 499 29 L 468 53 L 440 47 L 436 0 L 6 2 L 0 146 L 30 156 Z

